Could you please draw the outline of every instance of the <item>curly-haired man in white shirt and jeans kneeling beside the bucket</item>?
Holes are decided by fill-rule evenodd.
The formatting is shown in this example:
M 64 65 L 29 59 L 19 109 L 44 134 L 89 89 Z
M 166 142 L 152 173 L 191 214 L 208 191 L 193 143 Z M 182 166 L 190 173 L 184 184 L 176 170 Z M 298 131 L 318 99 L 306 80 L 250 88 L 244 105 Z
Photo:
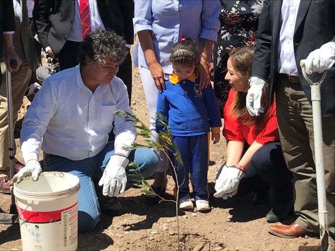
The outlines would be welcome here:
M 149 149 L 123 149 L 134 143 L 136 129 L 133 122 L 113 115 L 116 109 L 132 113 L 127 87 L 116 77 L 128 53 L 124 43 L 114 32 L 101 29 L 86 36 L 79 47 L 80 64 L 45 80 L 22 124 L 20 142 L 26 167 L 13 181 L 20 182 L 27 174 L 38 179 L 41 147 L 45 171 L 72 173 L 80 180 L 81 232 L 96 226 L 100 211 L 120 212 L 115 197 L 134 183 L 127 180 L 129 161 L 138 163 L 144 177 L 153 175 L 158 163 Z M 115 142 L 108 142 L 111 130 Z M 99 191 L 95 189 L 98 182 Z M 113 197 L 108 206 L 102 204 L 101 192 Z

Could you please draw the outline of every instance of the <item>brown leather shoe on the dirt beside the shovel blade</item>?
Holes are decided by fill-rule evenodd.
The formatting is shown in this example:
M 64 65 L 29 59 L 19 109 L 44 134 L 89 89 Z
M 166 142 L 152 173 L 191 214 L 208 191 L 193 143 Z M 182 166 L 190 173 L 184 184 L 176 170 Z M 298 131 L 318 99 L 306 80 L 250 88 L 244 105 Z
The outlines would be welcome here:
M 315 233 L 307 231 L 293 222 L 291 225 L 270 225 L 268 228 L 269 233 L 283 238 L 296 238 L 306 234 L 315 235 Z

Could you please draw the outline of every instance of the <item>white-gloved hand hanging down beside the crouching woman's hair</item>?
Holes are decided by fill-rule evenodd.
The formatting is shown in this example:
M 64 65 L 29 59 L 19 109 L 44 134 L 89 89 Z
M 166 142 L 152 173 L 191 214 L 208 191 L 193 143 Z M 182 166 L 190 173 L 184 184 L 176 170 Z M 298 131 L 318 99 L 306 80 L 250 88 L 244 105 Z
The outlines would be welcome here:
M 264 112 L 264 107 L 261 105 L 263 88 L 269 83 L 260 77 L 251 76 L 249 77 L 249 85 L 250 88 L 245 98 L 246 109 L 250 115 L 259 116 L 260 112 Z

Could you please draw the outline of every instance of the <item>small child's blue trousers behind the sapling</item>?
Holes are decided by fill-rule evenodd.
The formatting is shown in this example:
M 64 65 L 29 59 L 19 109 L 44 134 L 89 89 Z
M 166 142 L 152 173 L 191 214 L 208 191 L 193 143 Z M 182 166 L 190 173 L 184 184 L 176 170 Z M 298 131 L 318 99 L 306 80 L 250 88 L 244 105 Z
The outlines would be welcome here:
M 175 160 L 177 180 L 180 186 L 179 198 L 190 194 L 189 176 L 193 184 L 193 196 L 196 200 L 208 200 L 207 170 L 208 170 L 208 136 L 172 136 L 177 144 L 183 164 L 178 163 L 172 154 L 171 160 Z M 176 177 L 172 171 L 174 180 Z

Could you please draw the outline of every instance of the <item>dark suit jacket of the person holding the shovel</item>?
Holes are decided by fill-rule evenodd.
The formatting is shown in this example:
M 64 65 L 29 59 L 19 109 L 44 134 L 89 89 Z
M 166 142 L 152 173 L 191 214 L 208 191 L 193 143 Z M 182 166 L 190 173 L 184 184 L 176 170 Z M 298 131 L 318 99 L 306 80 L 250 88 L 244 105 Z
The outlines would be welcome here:
M 302 88 L 311 103 L 310 85 L 302 76 L 300 60 L 321 45 L 334 39 L 334 0 L 301 0 L 294 27 L 294 55 Z M 255 49 L 252 75 L 270 78 L 271 97 L 276 90 L 278 75 L 278 46 L 282 1 L 266 1 L 260 16 L 258 40 Z M 309 77 L 318 81 L 322 74 L 312 73 Z M 321 84 L 321 114 L 334 115 L 334 66 L 328 70 Z

